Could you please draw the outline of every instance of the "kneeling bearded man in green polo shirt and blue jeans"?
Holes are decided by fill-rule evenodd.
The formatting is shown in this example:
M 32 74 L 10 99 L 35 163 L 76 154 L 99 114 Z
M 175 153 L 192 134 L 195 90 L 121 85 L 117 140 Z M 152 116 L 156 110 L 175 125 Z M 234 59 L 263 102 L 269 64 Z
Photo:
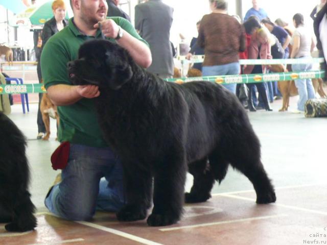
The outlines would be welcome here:
M 58 106 L 58 139 L 70 142 L 61 182 L 51 188 L 45 206 L 60 217 L 87 220 L 96 209 L 118 211 L 125 204 L 123 170 L 119 157 L 108 148 L 100 131 L 92 100 L 100 94 L 98 87 L 73 86 L 68 79 L 67 62 L 78 58 L 83 42 L 102 36 L 124 47 L 145 68 L 152 60 L 147 42 L 130 22 L 121 17 L 106 19 L 106 0 L 71 0 L 71 6 L 74 17 L 49 39 L 41 55 L 45 88 Z

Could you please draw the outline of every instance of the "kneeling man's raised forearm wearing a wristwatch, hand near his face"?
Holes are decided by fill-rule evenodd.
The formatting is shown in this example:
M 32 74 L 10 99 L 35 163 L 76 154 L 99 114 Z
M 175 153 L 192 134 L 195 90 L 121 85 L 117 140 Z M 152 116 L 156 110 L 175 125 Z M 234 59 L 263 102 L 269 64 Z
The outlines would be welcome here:
M 101 21 L 102 32 L 106 37 L 116 38 L 120 27 L 112 19 Z M 99 24 L 95 24 L 94 28 L 99 28 Z M 124 47 L 132 56 L 133 60 L 138 64 L 147 68 L 152 63 L 150 48 L 142 41 L 136 39 L 128 32 L 123 30 L 123 37 L 116 40 L 118 45 Z

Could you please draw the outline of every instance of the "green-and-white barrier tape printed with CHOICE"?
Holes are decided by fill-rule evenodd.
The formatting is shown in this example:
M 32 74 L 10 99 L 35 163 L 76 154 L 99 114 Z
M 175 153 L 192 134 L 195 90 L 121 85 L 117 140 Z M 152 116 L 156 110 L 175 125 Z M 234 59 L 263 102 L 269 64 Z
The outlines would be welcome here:
M 305 78 L 323 78 L 324 70 L 314 70 L 306 72 L 280 72 L 268 74 L 247 74 L 247 75 L 228 75 L 228 76 L 209 76 L 209 77 L 194 77 L 194 78 L 171 78 L 164 79 L 168 82 L 184 83 L 192 81 L 208 81 L 219 84 L 231 83 L 260 83 L 270 81 L 288 81 Z M 10 84 L 0 85 L 0 94 L 19 94 L 19 93 L 45 93 L 46 90 L 43 84 Z

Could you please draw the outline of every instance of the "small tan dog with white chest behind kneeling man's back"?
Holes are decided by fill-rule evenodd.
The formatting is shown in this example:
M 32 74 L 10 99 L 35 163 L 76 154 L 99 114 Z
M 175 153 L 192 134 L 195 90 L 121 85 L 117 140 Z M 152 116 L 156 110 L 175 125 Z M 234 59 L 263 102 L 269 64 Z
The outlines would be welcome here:
M 50 133 L 51 133 L 50 132 L 50 117 L 57 120 L 57 128 L 58 128 L 59 115 L 57 112 L 57 106 L 55 106 L 51 102 L 48 94 L 46 94 L 46 93 L 43 93 L 43 95 L 42 95 L 42 100 L 40 103 L 40 111 L 42 114 L 42 120 L 44 122 L 45 130 L 46 130 L 45 135 L 42 138 L 42 140 L 49 140 Z M 57 140 L 57 137 L 56 137 L 56 140 Z

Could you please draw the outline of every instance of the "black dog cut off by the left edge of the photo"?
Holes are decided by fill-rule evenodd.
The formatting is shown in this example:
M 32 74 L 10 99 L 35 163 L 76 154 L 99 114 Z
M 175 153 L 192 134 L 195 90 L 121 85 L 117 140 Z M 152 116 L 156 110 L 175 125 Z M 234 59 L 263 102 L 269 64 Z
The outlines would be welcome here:
M 26 139 L 17 126 L 0 112 L 0 223 L 8 231 L 36 227 L 35 207 L 28 191 L 30 171 L 25 155 Z

